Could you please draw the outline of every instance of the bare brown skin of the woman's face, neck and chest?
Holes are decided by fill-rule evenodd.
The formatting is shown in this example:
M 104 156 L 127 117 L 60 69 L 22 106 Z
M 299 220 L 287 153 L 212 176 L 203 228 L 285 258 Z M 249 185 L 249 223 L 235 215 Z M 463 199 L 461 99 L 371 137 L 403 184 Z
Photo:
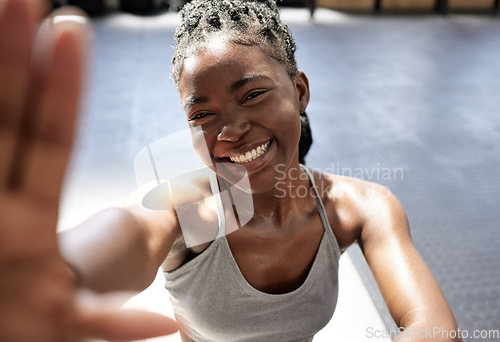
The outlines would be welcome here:
M 180 93 L 190 126 L 203 130 L 213 164 L 230 168 L 228 156 L 272 140 L 264 155 L 237 164 L 248 172 L 255 214 L 228 242 L 252 286 L 269 293 L 296 289 L 308 274 L 323 228 L 314 198 L 278 198 L 275 168 L 283 165 L 281 172 L 302 176 L 287 183 L 309 187 L 297 151 L 298 114 L 309 101 L 307 77 L 300 72 L 292 81 L 284 65 L 258 47 L 215 39 L 185 61 Z

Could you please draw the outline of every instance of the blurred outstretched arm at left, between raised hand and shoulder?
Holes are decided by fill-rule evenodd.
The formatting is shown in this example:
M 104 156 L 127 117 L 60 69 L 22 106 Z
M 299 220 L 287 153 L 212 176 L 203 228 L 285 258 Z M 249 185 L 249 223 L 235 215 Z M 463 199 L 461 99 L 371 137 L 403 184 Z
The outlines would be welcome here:
M 81 285 L 99 292 L 143 290 L 177 238 L 176 222 L 173 210 L 150 210 L 131 201 L 59 234 L 59 247 Z

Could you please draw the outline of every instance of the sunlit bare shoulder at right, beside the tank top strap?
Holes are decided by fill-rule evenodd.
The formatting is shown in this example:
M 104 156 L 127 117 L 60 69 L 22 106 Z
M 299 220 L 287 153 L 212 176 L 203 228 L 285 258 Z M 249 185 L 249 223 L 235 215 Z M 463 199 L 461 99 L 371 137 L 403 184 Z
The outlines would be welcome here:
M 403 206 L 387 187 L 321 171 L 313 175 L 341 248 L 369 234 L 408 229 Z

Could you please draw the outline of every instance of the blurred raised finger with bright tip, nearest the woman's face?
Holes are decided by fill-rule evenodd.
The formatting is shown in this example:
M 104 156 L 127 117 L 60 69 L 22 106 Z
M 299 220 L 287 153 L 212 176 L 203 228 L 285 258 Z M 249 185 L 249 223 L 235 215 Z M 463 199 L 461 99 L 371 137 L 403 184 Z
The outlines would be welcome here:
M 20 188 L 27 194 L 57 205 L 78 116 L 87 19 L 75 10 L 59 12 L 51 30 L 52 58 L 41 81 L 36 108 L 32 117 L 26 118 L 22 137 L 25 159 L 16 171 Z

